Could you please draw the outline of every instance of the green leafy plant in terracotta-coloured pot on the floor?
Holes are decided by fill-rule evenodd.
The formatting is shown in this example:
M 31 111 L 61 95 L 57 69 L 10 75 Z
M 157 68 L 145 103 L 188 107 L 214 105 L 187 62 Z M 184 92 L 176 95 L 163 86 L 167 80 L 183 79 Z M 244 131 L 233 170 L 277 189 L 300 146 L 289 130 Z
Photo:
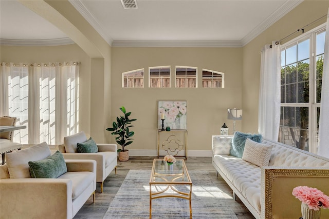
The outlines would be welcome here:
M 136 121 L 136 118 L 130 119 L 129 116 L 131 112 L 126 112 L 124 107 L 120 107 L 123 116 L 117 117 L 117 121 L 113 122 L 112 128 L 107 128 L 107 131 L 112 131 L 112 135 L 117 135 L 115 138 L 116 142 L 121 145 L 122 149 L 118 149 L 119 152 L 119 161 L 128 161 L 129 160 L 129 150 L 126 150 L 124 147 L 133 143 L 133 138 L 131 138 L 135 132 L 130 131 L 129 128 L 133 127 L 131 122 Z

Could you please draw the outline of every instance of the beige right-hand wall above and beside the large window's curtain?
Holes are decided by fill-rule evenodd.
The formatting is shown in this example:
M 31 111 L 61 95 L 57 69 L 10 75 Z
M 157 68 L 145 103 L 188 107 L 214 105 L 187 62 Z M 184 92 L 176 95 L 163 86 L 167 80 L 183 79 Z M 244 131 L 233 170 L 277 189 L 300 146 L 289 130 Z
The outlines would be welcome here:
M 242 130 L 246 132 L 258 132 L 258 97 L 261 67 L 260 51 L 262 47 L 266 44 L 271 44 L 272 41 L 279 41 L 297 31 L 297 29 L 327 14 L 328 7 L 329 1 L 304 1 L 243 47 Z M 326 22 L 326 18 L 321 19 L 313 25 L 309 25 L 305 28 L 305 32 L 324 22 Z M 300 34 L 301 33 L 294 34 L 281 42 L 281 44 Z

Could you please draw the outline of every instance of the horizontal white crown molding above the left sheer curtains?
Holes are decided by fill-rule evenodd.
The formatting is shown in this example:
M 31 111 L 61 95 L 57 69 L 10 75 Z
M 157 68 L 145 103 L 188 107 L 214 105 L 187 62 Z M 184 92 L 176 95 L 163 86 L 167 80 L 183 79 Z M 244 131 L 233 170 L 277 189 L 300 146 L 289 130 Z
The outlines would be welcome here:
M 75 44 L 72 39 L 57 38 L 57 39 L 0 39 L 2 46 L 63 46 Z

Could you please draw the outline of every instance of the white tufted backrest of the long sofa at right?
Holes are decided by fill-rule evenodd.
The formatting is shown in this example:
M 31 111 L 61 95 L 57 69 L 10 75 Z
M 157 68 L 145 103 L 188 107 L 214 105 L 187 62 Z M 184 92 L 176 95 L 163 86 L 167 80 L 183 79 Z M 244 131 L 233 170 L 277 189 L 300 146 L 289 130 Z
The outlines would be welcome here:
M 278 142 L 263 140 L 263 144 L 272 146 L 269 166 L 281 167 L 329 167 L 329 159 L 309 153 L 298 148 L 283 145 Z

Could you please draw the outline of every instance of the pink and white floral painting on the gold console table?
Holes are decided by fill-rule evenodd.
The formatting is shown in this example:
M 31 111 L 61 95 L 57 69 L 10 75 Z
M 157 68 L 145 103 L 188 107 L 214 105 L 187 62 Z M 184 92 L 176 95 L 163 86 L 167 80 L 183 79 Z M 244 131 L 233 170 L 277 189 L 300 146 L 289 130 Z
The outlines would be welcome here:
M 164 118 L 165 128 L 173 130 L 186 129 L 187 103 L 186 101 L 159 101 L 158 129 L 161 129 L 161 118 Z

